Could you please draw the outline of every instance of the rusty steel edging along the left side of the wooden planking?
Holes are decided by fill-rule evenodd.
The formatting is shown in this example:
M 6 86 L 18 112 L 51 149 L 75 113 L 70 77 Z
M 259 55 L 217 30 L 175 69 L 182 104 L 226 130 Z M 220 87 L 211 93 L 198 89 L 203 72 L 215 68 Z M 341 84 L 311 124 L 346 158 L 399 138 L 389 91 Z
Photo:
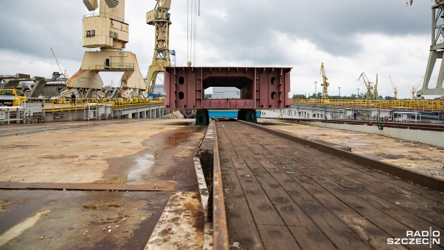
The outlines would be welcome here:
M 221 163 L 219 161 L 219 147 L 214 120 L 208 125 L 214 131 L 213 154 L 213 246 L 214 249 L 229 249 L 227 217 L 223 199 Z

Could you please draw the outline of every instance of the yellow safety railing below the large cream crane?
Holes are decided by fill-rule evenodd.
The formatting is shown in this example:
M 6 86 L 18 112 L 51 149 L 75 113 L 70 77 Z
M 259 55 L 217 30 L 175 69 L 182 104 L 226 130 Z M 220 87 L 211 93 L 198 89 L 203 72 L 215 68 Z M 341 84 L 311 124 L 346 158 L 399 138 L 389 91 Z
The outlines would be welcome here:
M 146 106 L 146 105 L 159 105 L 163 104 L 164 100 L 148 100 L 148 99 L 134 99 L 128 101 L 125 99 L 28 99 L 29 102 L 44 102 L 44 110 L 46 113 L 63 112 L 69 110 L 85 110 L 89 105 L 108 105 L 113 109 L 124 108 L 131 106 Z

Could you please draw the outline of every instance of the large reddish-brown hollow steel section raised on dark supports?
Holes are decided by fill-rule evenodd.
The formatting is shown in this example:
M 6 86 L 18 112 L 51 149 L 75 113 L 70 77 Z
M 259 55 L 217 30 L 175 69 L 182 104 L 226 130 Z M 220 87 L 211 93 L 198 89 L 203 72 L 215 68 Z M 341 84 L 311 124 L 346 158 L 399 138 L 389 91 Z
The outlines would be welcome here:
M 165 108 L 291 108 L 291 67 L 166 67 Z M 240 99 L 204 99 L 210 87 L 234 87 Z

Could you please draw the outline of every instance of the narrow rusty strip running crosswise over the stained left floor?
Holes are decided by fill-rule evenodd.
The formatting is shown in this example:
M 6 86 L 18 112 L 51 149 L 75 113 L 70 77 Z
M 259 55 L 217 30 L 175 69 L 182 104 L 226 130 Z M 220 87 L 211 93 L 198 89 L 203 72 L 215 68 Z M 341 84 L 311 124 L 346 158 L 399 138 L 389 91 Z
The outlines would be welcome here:
M 0 182 L 0 190 L 114 190 L 114 191 L 174 191 L 173 185 L 125 185 L 96 183 L 12 183 Z

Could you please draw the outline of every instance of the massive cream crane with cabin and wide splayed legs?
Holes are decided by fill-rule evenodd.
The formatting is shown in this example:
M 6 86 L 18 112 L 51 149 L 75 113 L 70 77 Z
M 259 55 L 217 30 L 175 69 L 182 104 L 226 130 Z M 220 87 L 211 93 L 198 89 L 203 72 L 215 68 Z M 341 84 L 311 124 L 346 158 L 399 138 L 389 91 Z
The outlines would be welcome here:
M 83 17 L 83 47 L 100 48 L 87 51 L 76 74 L 67 80 L 67 90 L 61 97 L 103 98 L 103 81 L 99 72 L 123 72 L 120 97 L 146 97 L 146 85 L 134 53 L 123 51 L 129 42 L 129 24 L 125 20 L 125 0 L 83 0 L 89 11 L 98 13 Z

